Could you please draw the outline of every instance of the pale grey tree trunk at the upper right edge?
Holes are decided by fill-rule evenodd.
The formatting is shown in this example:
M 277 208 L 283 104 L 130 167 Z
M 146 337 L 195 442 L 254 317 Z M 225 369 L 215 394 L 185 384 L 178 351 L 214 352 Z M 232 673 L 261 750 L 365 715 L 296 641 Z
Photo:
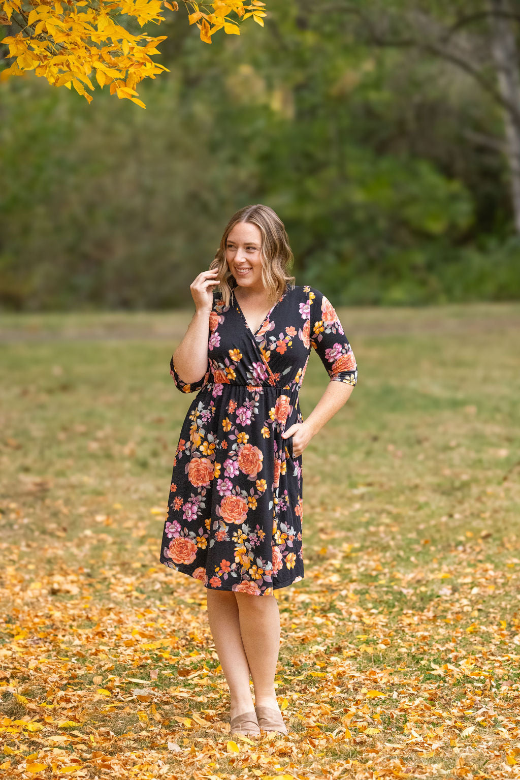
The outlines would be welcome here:
M 509 105 L 515 106 L 516 115 L 504 110 L 506 148 L 511 176 L 511 196 L 515 215 L 515 227 L 520 234 L 520 72 L 518 51 L 512 22 L 505 13 L 511 13 L 509 0 L 489 0 L 491 17 L 491 48 L 497 69 L 498 87 Z

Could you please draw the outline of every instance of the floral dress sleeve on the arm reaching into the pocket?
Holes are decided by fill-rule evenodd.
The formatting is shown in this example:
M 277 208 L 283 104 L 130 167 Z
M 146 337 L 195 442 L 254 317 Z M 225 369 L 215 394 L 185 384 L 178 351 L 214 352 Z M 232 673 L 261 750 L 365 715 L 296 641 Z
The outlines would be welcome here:
M 330 300 L 310 288 L 310 344 L 316 350 L 330 381 L 356 385 L 358 368 L 338 314 Z

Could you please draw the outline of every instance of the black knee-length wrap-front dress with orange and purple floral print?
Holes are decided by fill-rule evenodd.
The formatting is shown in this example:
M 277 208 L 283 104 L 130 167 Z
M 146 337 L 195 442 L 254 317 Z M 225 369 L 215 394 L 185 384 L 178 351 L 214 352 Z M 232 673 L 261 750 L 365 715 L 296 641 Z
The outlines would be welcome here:
M 330 381 L 356 385 L 357 366 L 327 297 L 288 286 L 253 333 L 232 295 L 213 291 L 207 371 L 182 424 L 161 563 L 207 588 L 270 595 L 303 578 L 302 456 L 286 428 L 302 423 L 299 389 L 316 350 Z

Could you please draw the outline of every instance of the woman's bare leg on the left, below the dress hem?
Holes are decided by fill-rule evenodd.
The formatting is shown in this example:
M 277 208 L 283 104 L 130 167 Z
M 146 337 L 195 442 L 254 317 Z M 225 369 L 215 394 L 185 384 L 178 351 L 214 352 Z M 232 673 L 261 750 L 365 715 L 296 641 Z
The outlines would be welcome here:
M 254 709 L 249 688 L 249 665 L 242 644 L 239 607 L 232 590 L 207 589 L 207 617 L 211 635 L 229 686 L 231 717 Z

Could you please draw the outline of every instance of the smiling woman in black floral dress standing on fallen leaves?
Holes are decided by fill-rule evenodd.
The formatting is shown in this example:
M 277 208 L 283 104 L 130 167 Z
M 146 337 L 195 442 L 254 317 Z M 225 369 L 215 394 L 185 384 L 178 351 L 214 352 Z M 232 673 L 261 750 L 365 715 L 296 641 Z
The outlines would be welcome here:
M 173 463 L 161 563 L 207 588 L 231 697 L 231 733 L 287 734 L 274 690 L 274 589 L 302 580 L 302 452 L 345 404 L 357 368 L 327 298 L 294 284 L 285 227 L 269 207 L 231 218 L 190 290 L 193 320 L 170 361 L 189 406 Z M 330 380 L 304 421 L 310 347 Z M 249 689 L 253 679 L 255 704 Z

